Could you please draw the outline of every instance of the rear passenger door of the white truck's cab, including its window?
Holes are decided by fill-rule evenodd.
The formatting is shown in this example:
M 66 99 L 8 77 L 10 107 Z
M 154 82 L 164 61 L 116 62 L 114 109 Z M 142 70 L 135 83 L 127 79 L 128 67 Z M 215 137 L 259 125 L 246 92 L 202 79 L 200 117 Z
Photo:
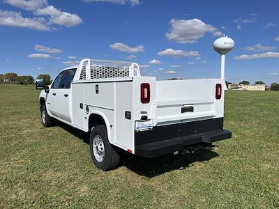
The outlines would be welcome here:
M 72 104 L 72 95 L 71 95 L 71 82 L 75 75 L 77 69 L 65 70 L 65 75 L 63 78 L 61 89 L 57 92 L 57 112 L 59 118 L 68 123 L 72 123 L 72 116 L 70 114 L 70 105 Z

